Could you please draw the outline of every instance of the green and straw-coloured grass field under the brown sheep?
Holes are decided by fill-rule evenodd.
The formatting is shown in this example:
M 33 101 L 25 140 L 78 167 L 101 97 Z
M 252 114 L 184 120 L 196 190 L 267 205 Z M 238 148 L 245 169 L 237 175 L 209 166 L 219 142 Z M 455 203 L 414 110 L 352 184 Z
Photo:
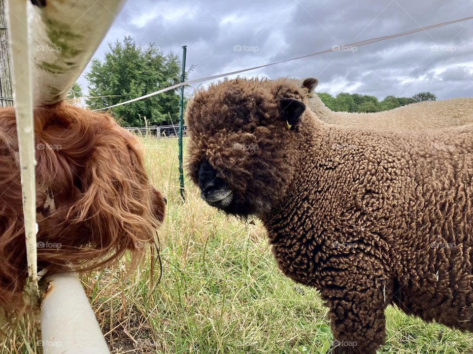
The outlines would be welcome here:
M 127 280 L 123 267 L 82 276 L 116 354 L 326 353 L 332 342 L 318 293 L 284 277 L 256 225 L 208 207 L 186 181 L 180 202 L 177 140 L 143 139 L 153 183 L 168 198 L 159 231 L 163 277 L 149 261 Z M 154 290 L 154 291 L 153 291 Z M 387 309 L 388 341 L 380 353 L 473 353 L 473 334 L 425 324 Z M 1 353 L 39 353 L 23 321 L 3 326 Z

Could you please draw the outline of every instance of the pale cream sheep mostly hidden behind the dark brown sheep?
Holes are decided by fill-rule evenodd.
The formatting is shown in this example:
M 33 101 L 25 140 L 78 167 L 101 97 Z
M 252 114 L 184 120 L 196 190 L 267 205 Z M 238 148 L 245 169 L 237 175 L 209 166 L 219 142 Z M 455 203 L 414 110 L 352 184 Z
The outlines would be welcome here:
M 294 79 L 294 82 L 307 90 L 307 107 L 326 123 L 391 130 L 445 128 L 473 123 L 473 98 L 417 102 L 376 113 L 333 112 L 313 92 L 318 85 L 317 79 Z

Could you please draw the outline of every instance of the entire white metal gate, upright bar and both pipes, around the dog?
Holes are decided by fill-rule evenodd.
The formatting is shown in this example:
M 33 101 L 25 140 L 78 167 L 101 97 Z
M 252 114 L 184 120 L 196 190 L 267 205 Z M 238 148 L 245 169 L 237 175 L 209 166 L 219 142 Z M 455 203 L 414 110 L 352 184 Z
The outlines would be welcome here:
M 28 0 L 8 0 L 26 250 L 33 300 L 38 299 L 33 108 L 58 103 L 66 97 L 124 0 L 47 0 L 45 3 L 44 7 L 38 7 Z M 55 274 L 47 281 L 49 288 L 41 303 L 43 353 L 109 354 L 77 276 Z

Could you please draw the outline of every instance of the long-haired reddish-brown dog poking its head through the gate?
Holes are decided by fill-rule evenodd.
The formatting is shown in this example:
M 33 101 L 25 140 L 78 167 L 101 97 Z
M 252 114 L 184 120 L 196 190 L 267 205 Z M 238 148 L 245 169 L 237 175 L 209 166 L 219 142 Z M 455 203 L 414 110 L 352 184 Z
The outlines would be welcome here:
M 135 136 L 66 103 L 34 111 L 38 268 L 91 270 L 145 251 L 166 200 Z M 19 309 L 28 277 L 13 108 L 0 109 L 0 306 Z

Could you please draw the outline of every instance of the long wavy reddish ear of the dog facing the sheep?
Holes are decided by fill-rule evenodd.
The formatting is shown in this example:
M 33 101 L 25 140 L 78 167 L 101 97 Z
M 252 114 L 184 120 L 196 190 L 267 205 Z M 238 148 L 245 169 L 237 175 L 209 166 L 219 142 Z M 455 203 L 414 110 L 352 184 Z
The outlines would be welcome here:
M 83 195 L 70 216 L 90 225 L 92 247 L 108 251 L 106 262 L 126 249 L 139 258 L 164 217 L 164 200 L 158 201 L 149 183 L 137 139 L 111 118 L 102 124 L 97 124 L 98 144 L 81 176 Z

